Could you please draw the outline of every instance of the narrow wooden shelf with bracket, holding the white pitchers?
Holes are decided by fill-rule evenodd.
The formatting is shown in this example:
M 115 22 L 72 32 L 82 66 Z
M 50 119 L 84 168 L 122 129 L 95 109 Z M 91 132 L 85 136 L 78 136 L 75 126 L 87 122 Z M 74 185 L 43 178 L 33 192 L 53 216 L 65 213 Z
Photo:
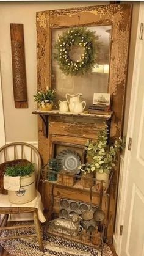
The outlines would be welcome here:
M 46 128 L 46 137 L 48 137 L 48 126 L 49 126 L 49 117 L 51 116 L 57 116 L 57 117 L 79 117 L 79 118 L 90 118 L 90 119 L 102 119 L 102 120 L 110 120 L 112 117 L 113 112 L 107 112 L 107 114 L 89 114 L 86 111 L 81 114 L 74 114 L 71 112 L 62 113 L 59 110 L 51 110 L 51 111 L 41 111 L 41 110 L 35 110 L 32 111 L 32 114 L 40 115 L 41 119 L 43 119 L 43 122 L 45 123 Z

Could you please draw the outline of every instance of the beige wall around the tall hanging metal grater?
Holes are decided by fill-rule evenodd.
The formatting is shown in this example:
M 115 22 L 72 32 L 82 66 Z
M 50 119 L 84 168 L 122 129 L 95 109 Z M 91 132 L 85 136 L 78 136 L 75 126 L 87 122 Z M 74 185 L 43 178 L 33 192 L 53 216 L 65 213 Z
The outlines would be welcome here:
M 0 2 L 0 51 L 6 142 L 37 141 L 37 117 L 31 114 L 31 112 L 37 108 L 33 97 L 37 90 L 36 12 L 41 10 L 99 5 L 102 3 L 108 4 L 109 2 Z M 27 109 L 16 109 L 13 100 L 10 23 L 24 24 L 24 45 L 26 54 L 26 76 L 29 103 L 29 108 Z

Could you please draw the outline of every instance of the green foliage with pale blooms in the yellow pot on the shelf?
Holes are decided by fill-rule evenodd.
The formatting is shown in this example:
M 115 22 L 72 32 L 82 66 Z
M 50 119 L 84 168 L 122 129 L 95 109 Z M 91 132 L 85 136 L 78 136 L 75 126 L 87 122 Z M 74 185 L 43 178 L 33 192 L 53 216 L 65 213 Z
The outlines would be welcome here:
M 34 101 L 40 104 L 53 103 L 56 99 L 56 90 L 46 87 L 46 90 L 38 90 L 34 95 Z

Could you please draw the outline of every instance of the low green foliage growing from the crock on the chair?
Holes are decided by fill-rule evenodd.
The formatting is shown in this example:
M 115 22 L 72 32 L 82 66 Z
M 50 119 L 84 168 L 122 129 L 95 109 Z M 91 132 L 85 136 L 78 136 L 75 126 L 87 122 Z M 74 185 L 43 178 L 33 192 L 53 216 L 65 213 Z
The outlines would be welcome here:
M 16 164 L 15 166 L 7 166 L 5 169 L 5 175 L 8 176 L 27 176 L 34 172 L 35 164 L 29 163 L 26 166 L 21 166 L 20 164 Z

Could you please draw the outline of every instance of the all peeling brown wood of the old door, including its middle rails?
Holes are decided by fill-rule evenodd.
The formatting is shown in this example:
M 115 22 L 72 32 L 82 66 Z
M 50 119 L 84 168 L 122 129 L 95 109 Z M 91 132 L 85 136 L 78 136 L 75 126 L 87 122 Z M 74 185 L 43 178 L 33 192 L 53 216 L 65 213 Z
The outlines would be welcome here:
M 110 137 L 119 137 L 123 129 L 124 97 L 126 90 L 126 77 L 128 66 L 129 32 L 131 27 L 131 4 L 110 4 L 92 7 L 82 7 L 76 9 L 51 10 L 37 13 L 37 82 L 38 88 L 45 89 L 51 86 L 51 29 L 71 26 L 99 26 L 112 24 L 112 38 L 110 51 L 110 73 L 109 89 L 112 95 L 112 117 Z M 103 120 L 99 123 L 79 123 L 78 120 L 56 120 L 49 117 L 49 137 L 43 134 L 45 126 L 38 118 L 38 149 L 43 158 L 43 163 L 47 163 L 51 156 L 52 138 L 61 137 L 67 142 L 96 138 L 99 128 L 103 125 Z M 79 141 L 79 143 L 80 143 Z M 113 175 L 110 192 L 110 221 L 107 230 L 109 240 L 112 239 L 113 225 L 115 219 L 115 206 L 117 198 L 118 165 Z M 57 196 L 67 196 L 71 194 L 76 197 L 76 193 L 71 189 L 63 190 L 56 188 Z M 52 187 L 46 186 L 45 204 L 49 207 L 52 204 Z M 85 192 L 77 193 L 87 197 Z M 52 207 L 49 208 L 48 218 L 51 218 Z

